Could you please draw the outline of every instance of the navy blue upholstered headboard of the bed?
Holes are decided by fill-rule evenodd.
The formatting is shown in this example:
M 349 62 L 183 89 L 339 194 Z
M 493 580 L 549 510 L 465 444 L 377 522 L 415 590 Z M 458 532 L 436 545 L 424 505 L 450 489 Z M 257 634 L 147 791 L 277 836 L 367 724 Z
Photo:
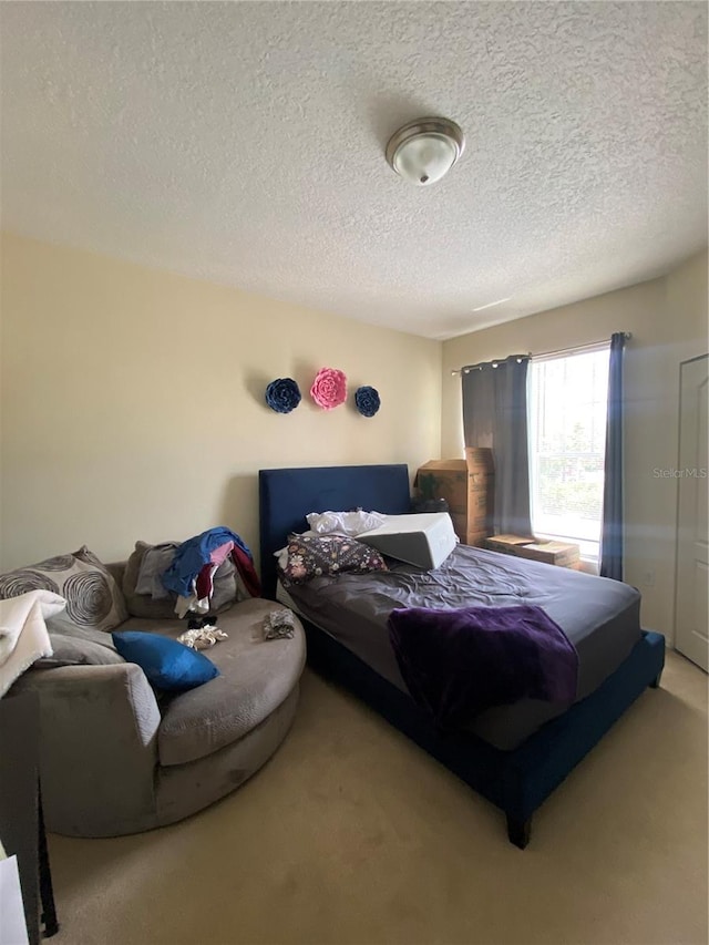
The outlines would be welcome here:
M 403 463 L 259 470 L 258 493 L 263 593 L 271 598 L 277 577 L 274 552 L 282 548 L 289 532 L 308 527 L 309 512 L 360 507 L 403 515 L 411 511 L 409 470 Z

